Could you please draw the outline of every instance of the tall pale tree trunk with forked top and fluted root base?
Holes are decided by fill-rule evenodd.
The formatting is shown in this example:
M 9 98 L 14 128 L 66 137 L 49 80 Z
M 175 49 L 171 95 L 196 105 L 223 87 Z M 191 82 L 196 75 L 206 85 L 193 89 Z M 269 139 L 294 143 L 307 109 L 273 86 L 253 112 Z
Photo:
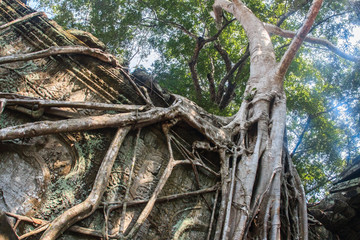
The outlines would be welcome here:
M 234 120 L 235 145 L 226 156 L 231 170 L 223 177 L 223 211 L 216 239 L 307 239 L 307 214 L 302 186 L 283 150 L 286 97 L 284 75 L 321 7 L 314 1 L 308 17 L 280 63 L 263 23 L 240 1 L 217 0 L 214 12 L 232 13 L 250 43 L 250 77 L 244 101 Z M 290 177 L 289 177 L 290 176 Z M 290 186 L 292 196 L 287 188 Z M 293 198 L 291 203 L 290 198 Z M 294 212 L 294 209 L 296 211 Z M 285 215 L 282 215 L 285 214 Z M 287 216 L 281 218 L 280 216 Z M 297 225 L 292 228 L 291 225 Z

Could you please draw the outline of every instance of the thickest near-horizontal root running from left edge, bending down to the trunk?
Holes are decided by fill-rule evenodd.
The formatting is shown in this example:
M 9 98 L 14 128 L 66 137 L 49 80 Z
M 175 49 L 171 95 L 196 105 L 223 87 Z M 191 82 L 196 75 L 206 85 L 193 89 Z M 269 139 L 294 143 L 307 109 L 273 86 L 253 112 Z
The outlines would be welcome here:
M 39 121 L 0 129 L 0 140 L 34 137 L 46 134 L 93 130 L 108 127 L 136 126 L 144 127 L 154 123 L 180 117 L 190 126 L 204 134 L 211 142 L 228 144 L 230 136 L 227 130 L 215 127 L 201 113 L 203 110 L 193 102 L 174 95 L 176 101 L 168 108 L 153 107 L 146 112 L 104 114 L 78 119 L 58 121 Z

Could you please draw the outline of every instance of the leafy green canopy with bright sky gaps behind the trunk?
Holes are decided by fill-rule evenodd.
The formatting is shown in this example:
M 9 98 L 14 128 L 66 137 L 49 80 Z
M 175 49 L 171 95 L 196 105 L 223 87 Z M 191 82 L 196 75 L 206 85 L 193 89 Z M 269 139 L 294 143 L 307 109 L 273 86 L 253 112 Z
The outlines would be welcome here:
M 224 12 L 222 25 L 216 25 L 213 1 L 30 3 L 67 29 L 92 33 L 124 65 L 155 53 L 150 56 L 152 67 L 145 69 L 155 81 L 212 113 L 232 115 L 252 97 L 243 96 L 250 68 L 248 39 L 231 14 Z M 311 5 L 307 0 L 244 3 L 267 29 L 288 31 L 299 29 Z M 360 154 L 360 62 L 355 57 L 360 49 L 353 37 L 359 31 L 359 6 L 359 1 L 326 1 L 310 30 L 318 42 L 310 39 L 303 44 L 286 75 L 290 153 L 311 201 Z M 275 30 L 271 33 L 281 57 L 291 39 Z

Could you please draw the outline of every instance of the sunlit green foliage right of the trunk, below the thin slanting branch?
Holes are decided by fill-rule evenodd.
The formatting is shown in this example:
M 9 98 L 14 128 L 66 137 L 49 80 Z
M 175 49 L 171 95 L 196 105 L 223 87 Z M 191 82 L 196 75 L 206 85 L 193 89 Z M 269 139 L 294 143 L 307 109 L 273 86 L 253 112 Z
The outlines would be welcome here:
M 319 189 L 325 191 L 329 180 L 344 169 L 345 160 L 360 152 L 356 126 L 360 112 L 355 107 L 359 105 L 356 97 L 359 92 L 354 88 L 359 70 L 337 57 L 324 63 L 326 55 L 297 58 L 286 81 L 287 126 L 292 148 L 299 141 L 306 121 L 311 119 L 293 156 L 310 201 L 318 200 Z M 348 78 L 351 80 L 346 81 Z

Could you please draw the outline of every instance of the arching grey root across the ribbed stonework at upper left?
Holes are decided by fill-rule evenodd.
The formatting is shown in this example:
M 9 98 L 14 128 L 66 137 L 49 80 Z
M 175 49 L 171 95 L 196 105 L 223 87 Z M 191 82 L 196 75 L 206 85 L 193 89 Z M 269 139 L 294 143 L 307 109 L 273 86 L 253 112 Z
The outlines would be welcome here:
M 109 63 L 115 67 L 121 66 L 113 55 L 105 53 L 104 51 L 97 48 L 89 48 L 84 46 L 61 46 L 61 47 L 53 46 L 53 47 L 49 47 L 48 49 L 40 50 L 37 52 L 4 56 L 4 57 L 0 57 L 0 64 L 12 63 L 18 61 L 28 61 L 38 58 L 55 56 L 59 54 L 87 55 L 97 58 L 102 62 Z

